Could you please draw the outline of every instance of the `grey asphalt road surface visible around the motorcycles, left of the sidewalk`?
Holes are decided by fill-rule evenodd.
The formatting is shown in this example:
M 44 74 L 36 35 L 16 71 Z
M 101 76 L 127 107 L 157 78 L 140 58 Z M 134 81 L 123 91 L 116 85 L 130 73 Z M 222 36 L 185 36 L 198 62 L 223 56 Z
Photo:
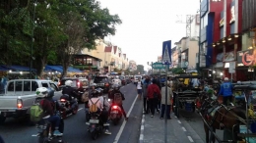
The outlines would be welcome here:
M 93 140 L 87 132 L 86 116 L 84 105 L 80 105 L 80 111 L 75 116 L 70 116 L 64 120 L 65 129 L 63 141 L 65 143 L 136 143 L 139 140 L 140 123 L 142 117 L 143 102 L 136 98 L 136 88 L 133 83 L 121 87 L 121 91 L 125 94 L 124 109 L 129 114 L 128 121 L 123 119 L 117 125 L 110 122 L 111 135 L 101 134 L 96 141 Z M 134 107 L 132 107 L 134 105 Z M 131 110 L 130 110 L 131 109 Z M 130 110 L 130 112 L 129 112 Z M 28 121 L 24 119 L 7 119 L 0 126 L 0 135 L 6 143 L 36 143 L 37 137 L 34 126 L 30 126 Z

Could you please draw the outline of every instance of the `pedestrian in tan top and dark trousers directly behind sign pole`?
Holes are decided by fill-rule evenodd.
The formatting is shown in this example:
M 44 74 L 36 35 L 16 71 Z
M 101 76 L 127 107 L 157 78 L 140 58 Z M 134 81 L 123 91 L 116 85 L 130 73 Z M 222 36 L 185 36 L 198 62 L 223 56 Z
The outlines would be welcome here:
M 165 109 L 165 96 L 166 96 L 165 88 L 166 88 L 166 86 L 167 86 L 167 108 Z M 173 93 L 169 86 L 170 86 L 170 82 L 167 82 L 167 85 L 164 85 L 163 87 L 161 87 L 161 90 L 160 90 L 160 93 L 161 93 L 160 119 L 163 119 L 165 110 L 166 110 L 165 118 L 171 119 L 170 118 L 170 105 L 171 105 L 171 99 L 172 99 Z

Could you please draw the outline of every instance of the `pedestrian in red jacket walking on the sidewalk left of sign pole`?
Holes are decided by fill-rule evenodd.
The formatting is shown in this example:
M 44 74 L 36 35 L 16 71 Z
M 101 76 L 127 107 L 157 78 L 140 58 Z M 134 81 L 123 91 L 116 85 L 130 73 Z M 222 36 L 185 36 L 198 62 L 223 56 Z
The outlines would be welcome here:
M 158 106 L 158 101 L 160 100 L 160 88 L 157 85 L 157 80 L 153 79 L 152 80 L 153 84 L 150 84 L 148 86 L 148 94 L 147 94 L 147 100 L 149 101 L 150 104 L 150 110 L 152 113 L 152 118 L 155 116 L 155 110 Z

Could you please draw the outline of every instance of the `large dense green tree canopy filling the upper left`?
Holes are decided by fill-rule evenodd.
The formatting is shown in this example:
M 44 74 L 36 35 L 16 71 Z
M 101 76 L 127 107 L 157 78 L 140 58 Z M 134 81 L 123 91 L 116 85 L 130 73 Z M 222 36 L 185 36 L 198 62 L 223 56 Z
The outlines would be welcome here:
M 95 49 L 96 39 L 115 34 L 116 24 L 118 15 L 96 0 L 1 0 L 0 64 L 29 66 L 34 59 L 40 74 L 46 64 L 61 63 L 65 75 L 72 56 Z

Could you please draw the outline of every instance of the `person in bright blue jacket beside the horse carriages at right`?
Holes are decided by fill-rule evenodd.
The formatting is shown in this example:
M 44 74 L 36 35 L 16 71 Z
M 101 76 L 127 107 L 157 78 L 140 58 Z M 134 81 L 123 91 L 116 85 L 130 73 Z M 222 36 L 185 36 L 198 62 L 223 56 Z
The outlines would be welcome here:
M 218 96 L 223 96 L 223 104 L 227 105 L 227 100 L 229 100 L 229 104 L 232 104 L 232 84 L 228 81 L 227 77 L 224 77 L 224 83 L 221 85 L 220 92 Z

